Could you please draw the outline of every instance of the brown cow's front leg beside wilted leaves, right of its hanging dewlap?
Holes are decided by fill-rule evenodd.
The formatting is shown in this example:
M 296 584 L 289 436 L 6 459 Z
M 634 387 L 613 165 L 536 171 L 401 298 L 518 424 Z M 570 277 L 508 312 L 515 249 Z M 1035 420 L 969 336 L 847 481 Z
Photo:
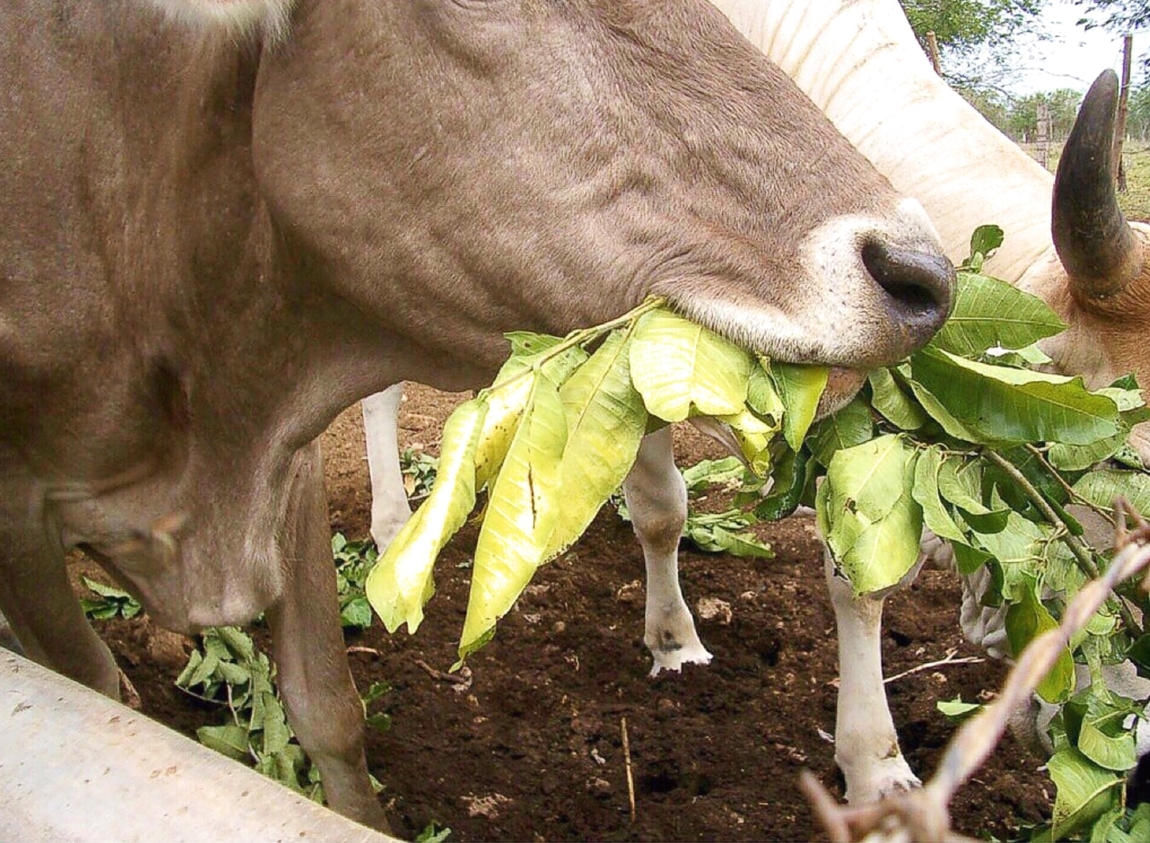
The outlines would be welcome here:
M 347 666 L 330 536 L 323 463 L 313 443 L 296 458 L 283 537 L 284 595 L 267 613 L 279 690 L 331 807 L 388 830 L 363 758 L 363 705 Z

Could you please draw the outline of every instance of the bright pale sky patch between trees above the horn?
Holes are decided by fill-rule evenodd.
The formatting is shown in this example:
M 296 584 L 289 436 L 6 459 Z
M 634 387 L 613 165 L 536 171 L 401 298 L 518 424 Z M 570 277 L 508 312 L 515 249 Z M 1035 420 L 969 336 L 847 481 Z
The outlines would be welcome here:
M 1075 22 L 1082 10 L 1063 0 L 1052 0 L 1042 14 L 1050 40 L 1040 41 L 1027 52 L 1034 58 L 1020 61 L 1017 74 L 1005 86 L 1018 94 L 1072 87 L 1086 91 L 1106 68 L 1121 72 L 1122 39 L 1107 30 L 1083 30 Z M 1134 32 L 1134 75 L 1137 82 L 1138 56 L 1150 48 L 1150 31 Z

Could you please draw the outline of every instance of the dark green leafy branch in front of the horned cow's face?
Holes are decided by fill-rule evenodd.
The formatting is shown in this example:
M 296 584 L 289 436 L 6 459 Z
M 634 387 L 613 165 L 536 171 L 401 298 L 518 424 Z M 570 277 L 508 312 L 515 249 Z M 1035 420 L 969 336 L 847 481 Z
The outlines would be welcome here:
M 820 423 L 853 434 L 828 447 L 816 432 L 805 447 L 826 472 L 819 520 L 856 592 L 898 582 L 915 561 L 926 524 L 952 543 L 963 573 L 989 568 L 983 603 L 1006 606 L 1007 638 L 1019 653 L 1056 627 L 1091 572 L 1109 564 L 1110 550 L 1086 544 L 1067 507 L 1087 507 L 1113 523 L 1113 501 L 1122 496 L 1150 512 L 1150 474 L 1142 466 L 1096 465 L 1130 459 L 1125 439 L 1148 411 L 1130 378 L 1090 392 L 1078 378 L 1028 368 L 1029 344 L 1059 324 L 1036 299 L 971 271 L 981 265 L 979 252 L 992 247 L 976 237 L 944 331 L 908 363 L 872 377 L 857 406 L 843 411 L 848 420 Z M 864 411 L 873 438 L 864 436 Z M 1150 610 L 1145 595 L 1122 593 L 1142 616 Z M 1147 700 L 1111 692 L 1101 669 L 1126 658 L 1138 665 L 1150 652 L 1138 612 L 1112 597 L 1037 688 L 1061 706 L 1045 838 L 1122 841 L 1128 829 L 1142 828 L 1126 812 L 1122 783 L 1136 761 L 1127 723 Z M 1075 662 L 1094 677 L 1078 691 Z M 964 712 L 957 703 L 941 708 Z

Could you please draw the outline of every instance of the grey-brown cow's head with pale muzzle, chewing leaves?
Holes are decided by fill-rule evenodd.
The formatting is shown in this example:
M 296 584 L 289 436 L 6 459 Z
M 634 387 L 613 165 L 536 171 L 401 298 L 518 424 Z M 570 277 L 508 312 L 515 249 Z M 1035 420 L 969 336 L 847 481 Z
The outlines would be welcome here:
M 651 293 L 852 370 L 951 306 L 918 204 L 700 0 L 297 0 L 253 154 L 308 278 L 475 376 Z

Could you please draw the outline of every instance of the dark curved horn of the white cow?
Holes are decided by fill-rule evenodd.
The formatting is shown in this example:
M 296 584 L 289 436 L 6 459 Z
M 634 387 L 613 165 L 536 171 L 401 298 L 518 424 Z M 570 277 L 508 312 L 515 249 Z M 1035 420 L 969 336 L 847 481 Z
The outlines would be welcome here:
M 1114 197 L 1118 76 L 1105 70 L 1082 100 L 1055 176 L 1055 248 L 1075 296 L 1113 296 L 1142 268 L 1142 250 Z

